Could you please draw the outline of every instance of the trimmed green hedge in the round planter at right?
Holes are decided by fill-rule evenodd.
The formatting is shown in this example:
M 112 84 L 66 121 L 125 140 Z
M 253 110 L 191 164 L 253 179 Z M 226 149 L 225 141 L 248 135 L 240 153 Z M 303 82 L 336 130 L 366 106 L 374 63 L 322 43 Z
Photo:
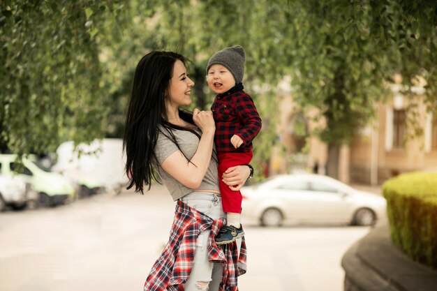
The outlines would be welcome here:
M 437 268 L 437 173 L 401 174 L 383 185 L 392 241 Z

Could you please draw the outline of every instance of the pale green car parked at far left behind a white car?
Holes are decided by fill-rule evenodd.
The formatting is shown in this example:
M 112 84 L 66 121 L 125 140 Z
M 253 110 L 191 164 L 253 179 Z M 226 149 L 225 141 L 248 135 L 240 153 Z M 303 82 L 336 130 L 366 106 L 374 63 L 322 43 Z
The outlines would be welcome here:
M 21 167 L 17 165 L 16 158 L 16 154 L 0 154 L 0 174 L 23 177 L 38 192 L 40 206 L 55 206 L 73 200 L 74 188 L 64 176 L 46 170 L 34 156 L 23 158 Z

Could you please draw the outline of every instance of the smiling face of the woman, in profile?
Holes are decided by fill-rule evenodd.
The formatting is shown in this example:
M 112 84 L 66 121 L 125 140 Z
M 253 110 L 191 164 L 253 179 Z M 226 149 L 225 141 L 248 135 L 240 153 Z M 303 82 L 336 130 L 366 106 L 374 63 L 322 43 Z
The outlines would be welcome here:
M 173 76 L 170 80 L 170 106 L 181 107 L 191 104 L 191 88 L 193 88 L 194 82 L 188 77 L 186 68 L 182 61 L 179 59 L 175 62 L 173 68 Z

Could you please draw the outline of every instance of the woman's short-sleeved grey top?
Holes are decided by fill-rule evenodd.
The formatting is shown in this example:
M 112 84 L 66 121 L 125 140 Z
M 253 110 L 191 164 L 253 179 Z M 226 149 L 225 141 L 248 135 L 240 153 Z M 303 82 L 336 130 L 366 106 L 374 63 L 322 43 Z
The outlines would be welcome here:
M 163 132 L 165 133 L 166 130 L 163 129 Z M 194 156 L 195 151 L 197 151 L 198 149 L 198 137 L 193 133 L 185 130 L 173 129 L 172 133 L 173 135 L 175 135 L 175 138 L 182 152 L 188 159 L 191 159 Z M 202 132 L 200 130 L 198 130 L 198 133 L 202 135 Z M 170 176 L 170 174 L 168 174 L 168 172 L 165 172 L 165 170 L 163 170 L 163 168 L 161 167 L 161 164 L 163 163 L 163 161 L 165 161 L 165 158 L 168 158 L 168 156 L 170 156 L 170 154 L 173 154 L 175 151 L 179 151 L 176 144 L 173 143 L 172 140 L 166 137 L 163 133 L 158 133 L 158 142 L 156 142 L 155 154 L 159 165 L 156 165 L 156 163 L 154 163 L 154 167 L 163 184 L 165 184 L 165 186 L 168 188 L 168 191 L 170 192 L 170 195 L 172 195 L 173 200 L 176 201 L 184 195 L 187 195 L 188 193 L 191 193 L 193 191 L 220 191 L 220 189 L 218 188 L 218 172 L 216 162 L 217 158 L 215 151 L 213 151 L 213 156 L 211 158 L 211 162 L 209 163 L 207 173 L 202 180 L 202 184 L 200 184 L 199 188 L 197 189 L 192 189 L 184 186 L 184 184 Z

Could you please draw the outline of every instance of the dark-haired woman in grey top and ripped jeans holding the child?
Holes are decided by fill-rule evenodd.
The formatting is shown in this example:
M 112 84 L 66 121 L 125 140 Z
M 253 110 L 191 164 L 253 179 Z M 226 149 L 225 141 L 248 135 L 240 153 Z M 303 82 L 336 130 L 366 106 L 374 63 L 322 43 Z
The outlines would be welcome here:
M 238 290 L 245 272 L 245 244 L 216 246 L 223 225 L 213 150 L 212 112 L 179 110 L 191 104 L 193 81 L 186 59 L 150 52 L 135 70 L 126 117 L 124 149 L 128 188 L 143 193 L 156 174 L 177 201 L 170 240 L 151 269 L 145 290 Z M 223 181 L 237 191 L 249 177 L 246 165 L 230 167 Z

